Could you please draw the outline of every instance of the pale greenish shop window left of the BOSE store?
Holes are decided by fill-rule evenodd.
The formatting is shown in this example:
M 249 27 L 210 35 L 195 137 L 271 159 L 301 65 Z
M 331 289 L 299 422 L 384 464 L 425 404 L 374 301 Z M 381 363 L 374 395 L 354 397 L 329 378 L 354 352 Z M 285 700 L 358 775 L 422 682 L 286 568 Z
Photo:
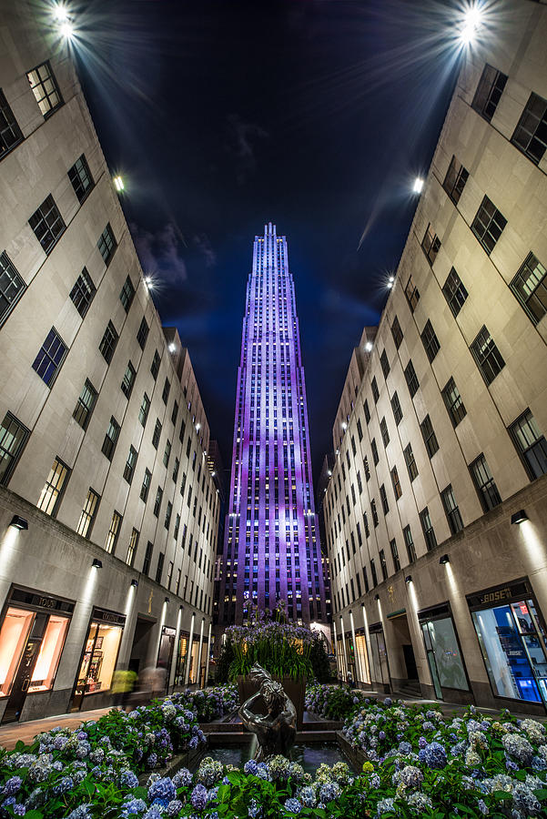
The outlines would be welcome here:
M 470 685 L 449 603 L 418 612 L 418 620 L 435 696 L 438 700 L 468 702 L 469 696 L 457 694 L 469 692 Z

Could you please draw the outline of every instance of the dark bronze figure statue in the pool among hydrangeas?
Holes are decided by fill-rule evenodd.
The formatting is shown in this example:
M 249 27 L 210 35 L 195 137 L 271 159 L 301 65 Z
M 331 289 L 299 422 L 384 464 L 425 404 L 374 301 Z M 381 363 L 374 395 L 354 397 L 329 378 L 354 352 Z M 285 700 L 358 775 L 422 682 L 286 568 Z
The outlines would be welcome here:
M 257 762 L 264 762 L 269 756 L 282 753 L 287 756 L 297 734 L 297 712 L 279 682 L 258 665 L 250 670 L 253 682 L 258 682 L 260 690 L 253 694 L 239 708 L 239 716 L 248 731 L 257 734 L 258 746 L 255 753 Z M 268 713 L 263 716 L 254 713 L 252 703 L 262 697 Z

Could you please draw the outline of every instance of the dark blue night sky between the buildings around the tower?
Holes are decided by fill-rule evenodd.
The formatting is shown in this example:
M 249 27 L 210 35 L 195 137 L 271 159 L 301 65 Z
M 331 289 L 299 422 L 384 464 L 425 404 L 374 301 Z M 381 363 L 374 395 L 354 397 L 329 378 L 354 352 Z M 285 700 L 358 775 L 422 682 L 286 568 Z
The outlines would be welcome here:
M 227 470 L 252 240 L 272 221 L 295 278 L 317 479 L 450 100 L 450 5 L 96 0 L 76 16 L 106 161 Z

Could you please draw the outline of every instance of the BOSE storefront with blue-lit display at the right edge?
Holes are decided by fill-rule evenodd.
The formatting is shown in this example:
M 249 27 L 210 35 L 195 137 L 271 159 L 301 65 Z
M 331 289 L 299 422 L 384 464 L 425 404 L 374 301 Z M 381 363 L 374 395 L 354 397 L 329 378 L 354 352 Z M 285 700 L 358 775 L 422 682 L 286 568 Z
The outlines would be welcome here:
M 468 595 L 494 696 L 547 705 L 542 612 L 527 579 Z

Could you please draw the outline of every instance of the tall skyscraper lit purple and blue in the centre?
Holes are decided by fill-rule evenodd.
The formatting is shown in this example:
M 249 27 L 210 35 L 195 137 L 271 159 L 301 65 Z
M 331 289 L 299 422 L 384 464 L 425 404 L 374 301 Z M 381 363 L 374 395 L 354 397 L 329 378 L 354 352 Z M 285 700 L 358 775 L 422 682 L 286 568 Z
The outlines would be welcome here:
M 271 223 L 248 277 L 222 562 L 219 625 L 243 622 L 248 597 L 325 621 L 299 319 L 287 241 Z

